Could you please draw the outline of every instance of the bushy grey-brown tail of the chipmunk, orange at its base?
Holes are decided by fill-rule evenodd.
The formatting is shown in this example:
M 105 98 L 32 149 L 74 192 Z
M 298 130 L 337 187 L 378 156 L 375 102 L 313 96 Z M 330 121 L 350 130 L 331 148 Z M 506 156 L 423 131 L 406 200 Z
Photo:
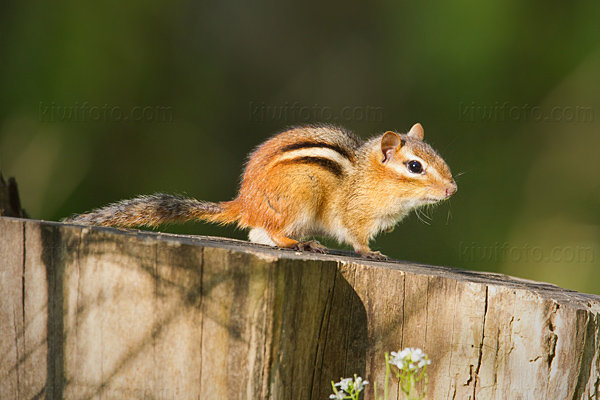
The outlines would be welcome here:
M 122 200 L 87 214 L 73 215 L 63 221 L 78 225 L 121 228 L 156 227 L 162 224 L 204 220 L 219 224 L 239 221 L 237 201 L 210 203 L 196 199 L 157 193 Z

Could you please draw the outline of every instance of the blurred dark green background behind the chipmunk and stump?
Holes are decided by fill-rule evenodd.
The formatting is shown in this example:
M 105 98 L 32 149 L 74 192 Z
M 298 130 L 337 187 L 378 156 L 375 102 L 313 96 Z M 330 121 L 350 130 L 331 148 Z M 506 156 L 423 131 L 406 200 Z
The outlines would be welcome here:
M 2 9 L 0 163 L 33 218 L 159 191 L 228 200 L 287 126 L 420 122 L 459 191 L 374 249 L 600 293 L 598 1 Z

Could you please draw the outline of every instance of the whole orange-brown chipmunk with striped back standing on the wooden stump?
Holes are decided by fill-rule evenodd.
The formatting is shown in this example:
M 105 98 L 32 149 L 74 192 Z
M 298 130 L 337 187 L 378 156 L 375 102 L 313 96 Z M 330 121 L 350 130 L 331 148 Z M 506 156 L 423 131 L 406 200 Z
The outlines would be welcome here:
M 212 203 L 154 194 L 74 215 L 65 222 L 156 227 L 204 220 L 250 228 L 251 242 L 326 253 L 322 235 L 348 243 L 362 257 L 385 260 L 369 241 L 410 211 L 457 190 L 444 160 L 423 142 L 415 124 L 407 134 L 385 132 L 368 141 L 334 126 L 304 126 L 258 146 L 237 197 Z

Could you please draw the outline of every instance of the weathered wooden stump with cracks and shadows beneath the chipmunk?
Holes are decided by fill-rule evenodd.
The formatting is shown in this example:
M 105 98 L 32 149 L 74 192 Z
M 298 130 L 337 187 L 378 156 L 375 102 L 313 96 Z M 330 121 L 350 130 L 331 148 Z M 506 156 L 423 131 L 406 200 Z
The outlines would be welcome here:
M 597 398 L 599 326 L 499 274 L 0 218 L 1 399 L 325 399 L 406 346 L 431 399 Z

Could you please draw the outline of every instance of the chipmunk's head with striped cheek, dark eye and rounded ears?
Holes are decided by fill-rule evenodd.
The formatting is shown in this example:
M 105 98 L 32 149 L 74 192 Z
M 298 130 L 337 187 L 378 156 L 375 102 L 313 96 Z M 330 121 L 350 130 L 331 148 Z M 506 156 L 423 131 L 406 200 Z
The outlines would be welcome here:
M 421 124 L 415 124 L 405 135 L 384 133 L 380 145 L 381 164 L 390 179 L 399 184 L 398 190 L 411 208 L 437 203 L 456 192 L 450 168 L 423 142 Z

